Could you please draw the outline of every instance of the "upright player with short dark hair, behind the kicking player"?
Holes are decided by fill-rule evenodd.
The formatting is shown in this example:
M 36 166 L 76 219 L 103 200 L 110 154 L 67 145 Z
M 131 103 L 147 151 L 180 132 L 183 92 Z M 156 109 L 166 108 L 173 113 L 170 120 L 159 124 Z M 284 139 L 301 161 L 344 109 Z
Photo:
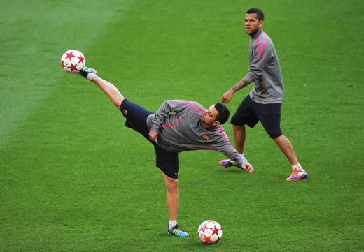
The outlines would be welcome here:
M 292 174 L 286 180 L 304 179 L 307 173 L 298 162 L 292 144 L 281 131 L 283 101 L 281 66 L 271 38 L 262 31 L 263 24 L 262 10 L 251 8 L 246 12 L 246 33 L 251 36 L 248 52 L 251 66 L 245 77 L 223 94 L 221 101 L 230 103 L 236 91 L 255 82 L 253 89 L 241 102 L 231 119 L 235 148 L 239 153 L 244 154 L 245 125 L 253 128 L 260 121 L 270 138 L 276 142 L 292 165 Z M 220 161 L 220 164 L 225 167 L 237 165 L 232 159 Z

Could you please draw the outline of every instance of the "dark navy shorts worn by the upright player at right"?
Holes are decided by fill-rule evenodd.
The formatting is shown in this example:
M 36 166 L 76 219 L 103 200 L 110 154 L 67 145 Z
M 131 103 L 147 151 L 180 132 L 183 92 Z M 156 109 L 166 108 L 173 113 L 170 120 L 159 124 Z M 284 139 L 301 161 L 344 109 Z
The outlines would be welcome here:
M 248 125 L 251 128 L 260 121 L 271 138 L 278 138 L 281 131 L 281 103 L 261 104 L 246 96 L 231 118 L 234 125 Z

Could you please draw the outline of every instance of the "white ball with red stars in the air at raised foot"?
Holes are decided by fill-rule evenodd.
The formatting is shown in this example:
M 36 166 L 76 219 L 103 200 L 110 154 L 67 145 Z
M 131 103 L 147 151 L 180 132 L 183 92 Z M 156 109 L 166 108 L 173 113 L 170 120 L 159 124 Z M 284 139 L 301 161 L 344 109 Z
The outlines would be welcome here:
M 85 56 L 78 50 L 68 50 L 61 57 L 62 68 L 68 73 L 78 73 L 85 64 Z

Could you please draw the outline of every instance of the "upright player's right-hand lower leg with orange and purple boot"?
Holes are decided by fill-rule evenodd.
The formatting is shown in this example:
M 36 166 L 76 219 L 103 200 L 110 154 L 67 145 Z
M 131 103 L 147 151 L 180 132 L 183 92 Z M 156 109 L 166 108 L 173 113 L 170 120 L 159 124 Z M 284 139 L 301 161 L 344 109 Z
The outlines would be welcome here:
M 274 142 L 276 142 L 281 151 L 286 155 L 293 168 L 292 174 L 286 180 L 292 181 L 307 178 L 307 172 L 302 168 L 300 163 L 298 163 L 295 150 L 293 149 L 290 140 L 288 140 L 286 136 L 280 135 L 278 138 L 274 138 Z

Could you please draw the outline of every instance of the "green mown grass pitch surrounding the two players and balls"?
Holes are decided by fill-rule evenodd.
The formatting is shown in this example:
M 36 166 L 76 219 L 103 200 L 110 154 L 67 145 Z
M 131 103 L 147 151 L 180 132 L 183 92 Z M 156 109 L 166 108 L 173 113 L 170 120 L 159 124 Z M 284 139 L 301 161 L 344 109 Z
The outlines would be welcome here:
M 221 168 L 216 151 L 182 153 L 179 223 L 192 236 L 172 237 L 151 144 L 59 59 L 81 50 L 148 110 L 209 106 L 248 69 L 252 5 L 281 61 L 283 133 L 309 177 L 285 180 L 260 124 L 246 141 L 253 175 Z M 364 251 L 363 13 L 359 0 L 1 1 L 0 251 Z M 224 230 L 213 246 L 197 239 L 209 218 Z

